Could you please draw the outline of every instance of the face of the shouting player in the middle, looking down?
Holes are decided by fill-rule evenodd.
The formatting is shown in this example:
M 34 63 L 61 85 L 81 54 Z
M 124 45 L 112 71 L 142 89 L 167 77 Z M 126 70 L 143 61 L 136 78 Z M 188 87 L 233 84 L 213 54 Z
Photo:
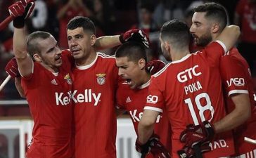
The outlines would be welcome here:
M 118 75 L 122 79 L 126 79 L 130 88 L 134 89 L 143 84 L 143 75 L 146 74 L 144 67 L 146 61 L 140 59 L 138 62 L 128 60 L 128 57 L 116 58 L 116 65 L 118 67 Z

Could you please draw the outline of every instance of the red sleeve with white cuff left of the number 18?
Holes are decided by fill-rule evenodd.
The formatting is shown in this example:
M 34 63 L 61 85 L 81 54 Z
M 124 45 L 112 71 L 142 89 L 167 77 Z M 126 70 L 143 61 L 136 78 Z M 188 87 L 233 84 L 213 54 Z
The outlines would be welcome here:
M 159 83 L 158 77 L 151 77 L 151 84 L 148 87 L 148 96 L 144 110 L 162 112 L 165 105 L 165 100 L 162 95 L 162 91 L 160 91 L 160 88 L 158 88 Z

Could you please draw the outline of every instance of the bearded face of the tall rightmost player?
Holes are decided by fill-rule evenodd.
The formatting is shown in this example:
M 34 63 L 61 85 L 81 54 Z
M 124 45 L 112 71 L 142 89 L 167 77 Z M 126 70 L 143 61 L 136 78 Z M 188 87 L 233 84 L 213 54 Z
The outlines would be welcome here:
M 212 41 L 211 25 L 205 18 L 205 12 L 196 12 L 193 14 L 190 32 L 195 38 L 196 45 L 207 46 Z

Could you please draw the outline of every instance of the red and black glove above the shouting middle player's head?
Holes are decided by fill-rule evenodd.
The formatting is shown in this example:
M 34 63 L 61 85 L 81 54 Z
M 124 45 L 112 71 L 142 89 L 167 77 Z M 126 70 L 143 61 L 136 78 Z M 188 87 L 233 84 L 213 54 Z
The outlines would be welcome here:
M 127 41 L 137 41 L 146 46 L 146 48 L 149 47 L 148 36 L 141 29 L 129 29 L 124 34 L 120 34 L 119 39 L 122 44 Z

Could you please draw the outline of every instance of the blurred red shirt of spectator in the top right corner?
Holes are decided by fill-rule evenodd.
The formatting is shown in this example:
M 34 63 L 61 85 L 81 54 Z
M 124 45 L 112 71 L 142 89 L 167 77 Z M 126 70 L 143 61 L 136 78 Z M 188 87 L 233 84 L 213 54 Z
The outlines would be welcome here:
M 241 19 L 241 40 L 256 44 L 256 4 L 240 0 L 236 5 L 236 13 Z

